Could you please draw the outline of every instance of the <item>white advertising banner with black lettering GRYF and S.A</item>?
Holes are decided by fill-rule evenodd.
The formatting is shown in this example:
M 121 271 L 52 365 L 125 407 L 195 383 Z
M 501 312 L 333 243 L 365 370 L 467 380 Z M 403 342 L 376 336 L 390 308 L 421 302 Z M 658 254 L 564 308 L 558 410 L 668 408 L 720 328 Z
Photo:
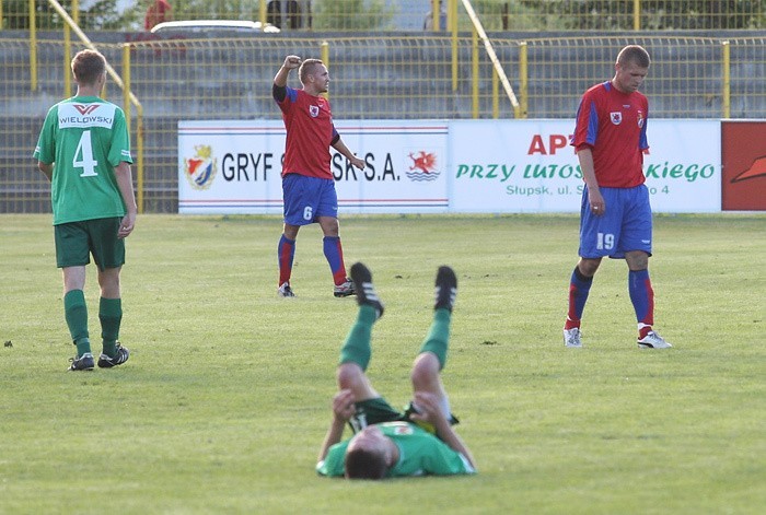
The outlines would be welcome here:
M 446 212 L 445 121 L 336 128 L 367 163 L 359 171 L 333 151 L 341 213 Z M 178 122 L 178 212 L 281 213 L 285 136 L 279 120 Z

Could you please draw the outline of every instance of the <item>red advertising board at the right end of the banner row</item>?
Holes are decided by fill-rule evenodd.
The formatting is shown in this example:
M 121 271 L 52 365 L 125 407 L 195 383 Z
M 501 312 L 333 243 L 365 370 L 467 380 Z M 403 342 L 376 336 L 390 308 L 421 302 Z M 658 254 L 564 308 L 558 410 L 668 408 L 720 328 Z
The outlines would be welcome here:
M 721 209 L 766 211 L 766 121 L 722 121 Z

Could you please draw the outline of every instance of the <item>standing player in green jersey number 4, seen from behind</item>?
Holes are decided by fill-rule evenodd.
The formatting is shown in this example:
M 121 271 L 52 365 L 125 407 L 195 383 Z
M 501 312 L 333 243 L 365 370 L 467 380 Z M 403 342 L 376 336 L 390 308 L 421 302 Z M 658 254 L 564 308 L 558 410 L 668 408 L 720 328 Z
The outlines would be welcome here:
M 82 50 L 72 59 L 72 73 L 77 95 L 48 110 L 34 157 L 50 180 L 63 312 L 77 346 L 69 370 L 92 371 L 85 266 L 92 254 L 101 286 L 98 366 L 121 365 L 129 352 L 118 342 L 123 319 L 119 273 L 125 264 L 125 237 L 134 230 L 138 208 L 125 113 L 98 96 L 106 82 L 106 59 L 95 50 Z

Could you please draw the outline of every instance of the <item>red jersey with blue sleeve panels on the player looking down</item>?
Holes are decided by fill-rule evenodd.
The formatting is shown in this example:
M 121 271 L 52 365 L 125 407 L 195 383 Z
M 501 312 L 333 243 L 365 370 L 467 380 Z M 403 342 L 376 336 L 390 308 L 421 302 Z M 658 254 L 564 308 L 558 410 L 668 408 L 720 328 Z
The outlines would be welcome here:
M 643 184 L 649 103 L 639 92 L 622 93 L 611 82 L 582 95 L 572 145 L 590 147 L 599 186 L 632 188 Z

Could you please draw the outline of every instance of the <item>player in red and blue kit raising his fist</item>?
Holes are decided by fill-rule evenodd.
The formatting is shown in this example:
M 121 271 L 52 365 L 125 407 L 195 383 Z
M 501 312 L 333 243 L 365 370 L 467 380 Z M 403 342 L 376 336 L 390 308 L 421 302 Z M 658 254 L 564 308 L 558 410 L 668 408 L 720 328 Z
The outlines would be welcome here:
M 300 67 L 300 68 L 299 68 Z M 298 73 L 303 87 L 287 85 L 290 70 Z M 287 142 L 282 164 L 282 200 L 285 230 L 279 239 L 280 296 L 294 296 L 290 286 L 295 238 L 301 225 L 317 222 L 324 233 L 324 254 L 333 272 L 335 296 L 353 295 L 353 282 L 346 276 L 344 253 L 338 236 L 338 197 L 335 179 L 329 171 L 329 148 L 340 152 L 353 166 L 364 169 L 364 161 L 357 157 L 340 140 L 333 125 L 327 92 L 329 73 L 318 59 L 301 62 L 298 56 L 287 56 L 274 78 L 274 100 L 282 112 Z

